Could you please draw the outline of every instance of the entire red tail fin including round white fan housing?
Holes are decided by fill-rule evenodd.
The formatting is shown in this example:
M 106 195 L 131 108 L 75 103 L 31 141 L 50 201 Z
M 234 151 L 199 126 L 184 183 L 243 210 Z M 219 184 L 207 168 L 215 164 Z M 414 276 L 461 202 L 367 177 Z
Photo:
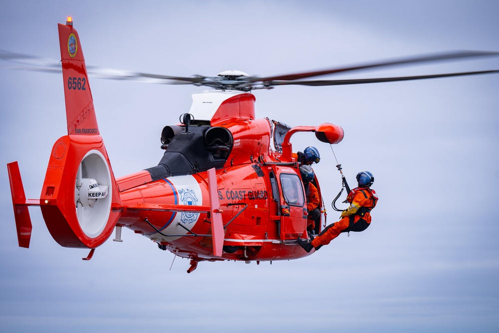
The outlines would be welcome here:
M 121 200 L 99 134 L 78 32 L 59 24 L 67 132 L 52 148 L 40 209 L 64 247 L 96 248 L 111 235 Z

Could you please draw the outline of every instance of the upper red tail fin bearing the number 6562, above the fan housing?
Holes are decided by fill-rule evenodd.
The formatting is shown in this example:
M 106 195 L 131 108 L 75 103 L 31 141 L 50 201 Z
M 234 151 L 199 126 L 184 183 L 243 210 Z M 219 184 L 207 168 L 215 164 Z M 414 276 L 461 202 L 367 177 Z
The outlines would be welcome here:
M 72 22 L 59 24 L 59 42 L 66 99 L 67 134 L 99 134 L 85 58 L 78 32 L 73 28 Z

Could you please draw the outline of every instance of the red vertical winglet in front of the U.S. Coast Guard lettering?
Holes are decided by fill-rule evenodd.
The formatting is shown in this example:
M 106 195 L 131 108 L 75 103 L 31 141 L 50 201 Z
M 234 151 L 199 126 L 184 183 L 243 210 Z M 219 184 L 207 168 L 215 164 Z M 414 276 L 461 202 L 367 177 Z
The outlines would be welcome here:
M 222 257 L 224 248 L 224 225 L 222 222 L 222 210 L 218 198 L 217 175 L 215 168 L 208 170 L 208 193 L 210 197 L 210 214 L 212 220 L 213 254 Z

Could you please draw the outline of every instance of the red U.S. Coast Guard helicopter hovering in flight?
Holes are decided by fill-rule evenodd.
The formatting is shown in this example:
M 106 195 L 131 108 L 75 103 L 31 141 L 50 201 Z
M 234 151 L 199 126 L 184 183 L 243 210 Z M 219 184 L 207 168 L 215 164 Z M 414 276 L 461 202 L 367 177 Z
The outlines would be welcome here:
M 229 70 L 216 77 L 126 73 L 122 79 L 208 86 L 195 92 L 188 113 L 161 133 L 157 166 L 115 178 L 100 135 L 79 35 L 68 18 L 58 24 L 68 134 L 53 145 L 39 199 L 26 199 L 17 162 L 7 164 L 18 244 L 28 248 L 28 206 L 39 206 L 54 240 L 63 247 L 95 249 L 128 228 L 190 259 L 202 261 L 290 260 L 309 256 L 296 241 L 306 238 L 307 210 L 300 161 L 291 137 L 312 132 L 338 144 L 339 125 L 290 127 L 255 117 L 251 94 L 279 85 L 327 86 L 497 73 L 498 70 L 350 80 L 303 80 L 365 68 L 497 56 L 459 51 L 344 68 L 259 77 Z M 6 56 L 4 56 L 5 58 Z M 272 144 L 271 144 L 272 141 Z M 272 147 L 273 146 L 273 147 Z M 325 227 L 325 204 L 314 232 Z

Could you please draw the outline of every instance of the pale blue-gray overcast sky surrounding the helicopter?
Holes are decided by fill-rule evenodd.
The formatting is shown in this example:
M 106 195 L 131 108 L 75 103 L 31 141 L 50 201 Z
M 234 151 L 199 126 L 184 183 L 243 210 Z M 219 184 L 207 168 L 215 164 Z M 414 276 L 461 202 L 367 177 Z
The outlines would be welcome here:
M 43 3 L 42 3 L 43 2 Z M 68 2 L 68 1 L 64 1 Z M 158 74 L 272 75 L 454 49 L 499 51 L 498 1 L 3 1 L 0 48 L 57 59 L 72 15 L 87 65 Z M 12 64 L 0 62 L 0 66 Z M 499 59 L 356 73 L 378 77 L 499 69 Z M 60 75 L 0 68 L 1 163 L 18 161 L 39 198 L 50 149 L 66 134 Z M 101 135 L 119 177 L 156 165 L 161 130 L 191 86 L 93 79 Z M 17 247 L 6 168 L 0 217 L 2 332 L 498 332 L 499 75 L 254 91 L 256 114 L 291 126 L 332 122 L 350 184 L 373 172 L 372 226 L 312 256 L 200 263 L 123 231 L 87 251 L 53 241 L 31 208 Z M 336 161 L 311 134 L 330 202 Z M 338 214 L 328 209 L 328 223 Z

